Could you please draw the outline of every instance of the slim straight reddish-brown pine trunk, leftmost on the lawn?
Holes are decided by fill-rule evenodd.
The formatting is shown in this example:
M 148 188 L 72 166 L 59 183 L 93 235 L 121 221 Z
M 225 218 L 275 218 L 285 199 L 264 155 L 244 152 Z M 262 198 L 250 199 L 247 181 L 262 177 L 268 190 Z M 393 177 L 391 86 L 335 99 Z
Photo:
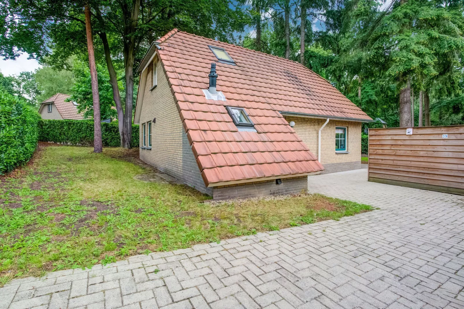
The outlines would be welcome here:
M 92 82 L 92 97 L 93 97 L 93 129 L 94 141 L 93 152 L 101 153 L 103 151 L 102 144 L 102 127 L 100 119 L 100 97 L 98 95 L 98 79 L 97 66 L 95 65 L 95 55 L 93 51 L 92 26 L 90 25 L 90 6 L 85 5 L 85 32 L 87 35 L 87 50 L 89 52 L 89 67 L 90 78 Z

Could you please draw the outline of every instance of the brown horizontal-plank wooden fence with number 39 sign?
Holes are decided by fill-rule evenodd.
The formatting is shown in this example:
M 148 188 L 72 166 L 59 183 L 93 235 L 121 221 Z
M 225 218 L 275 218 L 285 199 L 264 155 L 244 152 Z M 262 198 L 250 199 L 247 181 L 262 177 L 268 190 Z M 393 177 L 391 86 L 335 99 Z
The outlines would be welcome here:
M 369 129 L 368 180 L 464 194 L 464 126 Z

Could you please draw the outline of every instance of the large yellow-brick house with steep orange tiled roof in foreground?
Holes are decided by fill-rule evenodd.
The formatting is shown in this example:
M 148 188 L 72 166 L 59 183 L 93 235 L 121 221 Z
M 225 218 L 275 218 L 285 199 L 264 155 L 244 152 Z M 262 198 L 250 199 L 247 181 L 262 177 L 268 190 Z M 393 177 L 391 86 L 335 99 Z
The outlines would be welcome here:
M 174 29 L 137 71 L 140 158 L 213 199 L 298 193 L 361 164 L 372 119 L 294 61 Z

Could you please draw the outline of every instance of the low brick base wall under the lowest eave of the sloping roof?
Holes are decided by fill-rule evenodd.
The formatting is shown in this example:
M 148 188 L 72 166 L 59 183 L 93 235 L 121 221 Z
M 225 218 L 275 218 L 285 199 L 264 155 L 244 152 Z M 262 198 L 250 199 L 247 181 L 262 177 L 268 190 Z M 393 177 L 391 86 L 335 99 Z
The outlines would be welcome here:
M 306 192 L 308 177 L 283 178 L 282 184 L 276 180 L 258 181 L 243 185 L 222 186 L 213 188 L 213 200 L 245 199 L 258 196 L 293 194 Z

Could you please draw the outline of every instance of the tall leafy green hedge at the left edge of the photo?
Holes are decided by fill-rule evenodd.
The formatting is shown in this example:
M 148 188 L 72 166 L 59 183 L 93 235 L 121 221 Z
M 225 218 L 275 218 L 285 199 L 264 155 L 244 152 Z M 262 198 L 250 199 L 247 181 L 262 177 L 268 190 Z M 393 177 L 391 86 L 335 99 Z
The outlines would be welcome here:
M 0 174 L 29 161 L 37 148 L 39 119 L 26 102 L 0 91 Z

